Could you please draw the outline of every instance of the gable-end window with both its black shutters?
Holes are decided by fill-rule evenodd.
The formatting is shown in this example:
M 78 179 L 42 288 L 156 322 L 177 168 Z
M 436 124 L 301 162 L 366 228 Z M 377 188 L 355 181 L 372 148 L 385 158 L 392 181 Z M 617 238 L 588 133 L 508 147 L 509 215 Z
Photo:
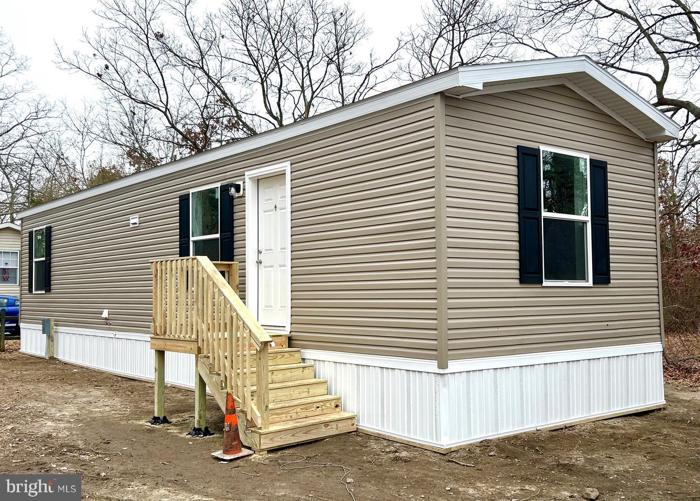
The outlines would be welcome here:
M 518 147 L 520 282 L 610 283 L 607 164 Z

